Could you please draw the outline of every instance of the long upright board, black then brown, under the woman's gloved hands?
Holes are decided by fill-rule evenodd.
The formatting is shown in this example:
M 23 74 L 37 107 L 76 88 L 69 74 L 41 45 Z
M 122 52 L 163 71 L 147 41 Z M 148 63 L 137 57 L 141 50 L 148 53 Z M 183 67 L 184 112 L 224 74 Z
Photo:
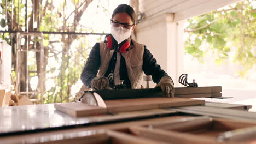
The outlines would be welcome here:
M 177 87 L 174 97 L 182 98 L 202 98 L 202 97 L 221 97 L 222 87 Z M 103 100 L 132 99 L 132 98 L 154 98 L 164 97 L 161 88 L 144 89 L 119 89 L 102 91 L 86 91 L 85 95 L 95 95 L 97 93 Z M 96 96 L 96 95 L 95 95 Z

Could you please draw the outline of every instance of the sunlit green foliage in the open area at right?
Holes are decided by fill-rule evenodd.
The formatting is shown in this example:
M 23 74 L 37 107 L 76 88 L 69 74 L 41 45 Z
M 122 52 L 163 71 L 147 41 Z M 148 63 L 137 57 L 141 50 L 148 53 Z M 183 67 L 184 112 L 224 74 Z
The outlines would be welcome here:
M 210 13 L 188 19 L 184 32 L 185 53 L 204 63 L 206 53 L 212 53 L 217 65 L 224 64 L 235 47 L 232 62 L 241 65 L 237 73 L 244 77 L 256 65 L 256 5 L 255 0 L 242 1 Z M 253 9 L 254 4 L 254 9 Z

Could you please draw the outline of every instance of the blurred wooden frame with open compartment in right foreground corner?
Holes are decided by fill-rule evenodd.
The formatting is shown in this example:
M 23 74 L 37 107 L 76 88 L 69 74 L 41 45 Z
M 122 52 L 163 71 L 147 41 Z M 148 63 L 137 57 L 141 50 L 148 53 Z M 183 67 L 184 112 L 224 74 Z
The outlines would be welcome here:
M 226 132 L 227 131 L 227 132 Z M 256 123 L 210 117 L 189 117 L 172 122 L 133 126 L 129 133 L 171 143 L 248 143 L 256 140 Z

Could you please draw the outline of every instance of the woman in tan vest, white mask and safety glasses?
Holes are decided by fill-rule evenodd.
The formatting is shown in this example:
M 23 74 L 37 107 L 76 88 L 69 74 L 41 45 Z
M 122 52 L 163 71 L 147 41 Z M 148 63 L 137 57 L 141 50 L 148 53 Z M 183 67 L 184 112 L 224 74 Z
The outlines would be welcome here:
M 111 17 L 111 33 L 106 40 L 96 43 L 81 74 L 81 80 L 94 90 L 123 84 L 126 88 L 140 88 L 143 72 L 152 75 L 156 87 L 166 97 L 174 97 L 173 81 L 143 44 L 131 39 L 135 29 L 135 12 L 127 4 L 120 4 Z M 96 76 L 97 74 L 97 76 Z M 109 83 L 112 76 L 114 83 Z M 108 78 L 107 78 L 108 77 Z

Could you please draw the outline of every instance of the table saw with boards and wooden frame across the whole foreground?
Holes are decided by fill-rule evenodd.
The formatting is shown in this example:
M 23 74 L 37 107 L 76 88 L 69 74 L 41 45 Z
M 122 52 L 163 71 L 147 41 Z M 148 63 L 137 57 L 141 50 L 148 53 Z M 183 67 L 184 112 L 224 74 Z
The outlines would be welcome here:
M 249 143 L 254 141 L 256 115 L 254 112 L 246 111 L 249 105 L 205 103 L 204 100 L 191 99 L 216 97 L 216 95 L 222 97 L 222 94 L 219 94 L 221 87 L 176 88 L 176 92 L 177 97 L 174 98 L 162 98 L 159 89 L 90 91 L 84 95 L 84 97 L 99 95 L 106 107 L 100 107 L 98 101 L 90 99 L 84 99 L 88 103 L 82 103 L 83 99 L 80 99 L 75 103 L 2 107 L 0 141 L 1 143 Z M 137 98 L 139 94 L 141 97 Z

